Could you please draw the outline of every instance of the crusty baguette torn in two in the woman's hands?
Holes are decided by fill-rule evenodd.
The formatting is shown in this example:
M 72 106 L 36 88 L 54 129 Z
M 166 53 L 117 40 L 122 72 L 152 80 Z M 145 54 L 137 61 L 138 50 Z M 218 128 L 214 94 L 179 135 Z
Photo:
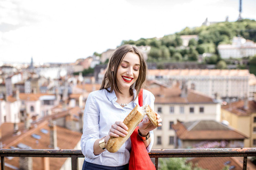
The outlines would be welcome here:
M 158 122 L 156 118 L 155 112 L 150 108 L 149 105 L 145 105 L 142 107 L 139 107 L 138 105 L 135 106 L 129 115 L 127 115 L 123 121 L 123 123 L 127 126 L 128 134 L 126 134 L 125 137 L 110 137 L 110 139 L 107 142 L 106 149 L 109 152 L 116 152 L 118 151 L 121 146 L 124 144 L 124 142 L 131 136 L 133 131 L 136 129 L 138 124 L 141 122 L 143 117 L 147 114 L 149 120 L 157 127 Z

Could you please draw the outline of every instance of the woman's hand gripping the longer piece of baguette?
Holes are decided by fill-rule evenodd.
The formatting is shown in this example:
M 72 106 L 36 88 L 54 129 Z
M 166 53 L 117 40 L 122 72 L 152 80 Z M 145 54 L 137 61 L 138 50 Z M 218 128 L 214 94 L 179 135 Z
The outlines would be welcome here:
M 128 134 L 127 130 L 128 128 L 123 122 L 115 122 L 115 124 L 111 125 L 108 134 L 110 137 L 125 137 Z

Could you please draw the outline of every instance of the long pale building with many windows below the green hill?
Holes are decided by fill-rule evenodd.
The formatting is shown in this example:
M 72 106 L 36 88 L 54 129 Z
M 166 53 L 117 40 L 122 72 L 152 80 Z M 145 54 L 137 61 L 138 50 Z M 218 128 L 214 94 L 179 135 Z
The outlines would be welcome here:
M 186 81 L 188 88 L 214 97 L 231 100 L 249 96 L 248 70 L 149 70 L 148 80 L 158 80 L 169 86 Z

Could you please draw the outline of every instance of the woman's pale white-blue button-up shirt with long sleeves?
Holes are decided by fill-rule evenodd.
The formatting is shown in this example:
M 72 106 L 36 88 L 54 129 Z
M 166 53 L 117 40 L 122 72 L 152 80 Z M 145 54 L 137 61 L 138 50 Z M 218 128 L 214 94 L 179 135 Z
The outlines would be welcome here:
M 136 90 L 133 90 L 133 93 L 136 96 Z M 138 104 L 138 98 L 125 107 L 116 103 L 116 100 L 115 91 L 113 90 L 110 93 L 106 89 L 91 92 L 86 100 L 83 135 L 81 138 L 81 148 L 86 162 L 105 166 L 122 166 L 129 163 L 130 138 L 115 153 L 105 150 L 99 155 L 93 154 L 94 142 L 108 135 L 111 125 L 116 121 L 124 121 L 124 118 Z M 154 95 L 143 89 L 143 105 L 148 104 L 154 109 L 154 101 Z M 153 131 L 150 131 L 150 136 L 151 143 L 147 147 L 148 152 L 150 152 L 154 142 Z

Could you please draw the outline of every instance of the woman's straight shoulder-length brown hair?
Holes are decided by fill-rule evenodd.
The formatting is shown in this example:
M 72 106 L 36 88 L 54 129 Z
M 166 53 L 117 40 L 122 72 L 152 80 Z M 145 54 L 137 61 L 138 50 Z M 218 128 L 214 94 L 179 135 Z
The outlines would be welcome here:
M 118 87 L 118 84 L 117 84 L 116 74 L 117 74 L 117 69 L 118 69 L 119 65 L 121 64 L 124 56 L 129 52 L 131 52 L 133 54 L 137 54 L 140 58 L 139 77 L 136 80 L 135 87 L 134 87 L 134 89 L 136 89 L 136 91 L 137 91 L 137 96 L 135 98 L 138 97 L 139 91 L 142 87 L 142 84 L 146 80 L 147 64 L 146 64 L 146 60 L 143 57 L 143 54 L 140 52 L 140 50 L 137 47 L 132 46 L 132 45 L 123 45 L 121 47 L 118 47 L 115 50 L 115 52 L 113 53 L 113 55 L 111 56 L 111 58 L 108 62 L 108 67 L 107 67 L 106 73 L 104 74 L 100 90 L 106 89 L 108 92 L 112 92 L 113 90 L 115 90 L 122 94 L 122 92 L 120 91 L 120 88 Z M 111 71 L 111 69 L 113 67 L 114 67 L 114 71 Z M 132 86 L 133 86 L 133 84 L 132 84 Z M 110 88 L 110 90 L 108 90 L 108 88 Z M 132 88 L 130 88 L 130 94 L 133 95 Z

